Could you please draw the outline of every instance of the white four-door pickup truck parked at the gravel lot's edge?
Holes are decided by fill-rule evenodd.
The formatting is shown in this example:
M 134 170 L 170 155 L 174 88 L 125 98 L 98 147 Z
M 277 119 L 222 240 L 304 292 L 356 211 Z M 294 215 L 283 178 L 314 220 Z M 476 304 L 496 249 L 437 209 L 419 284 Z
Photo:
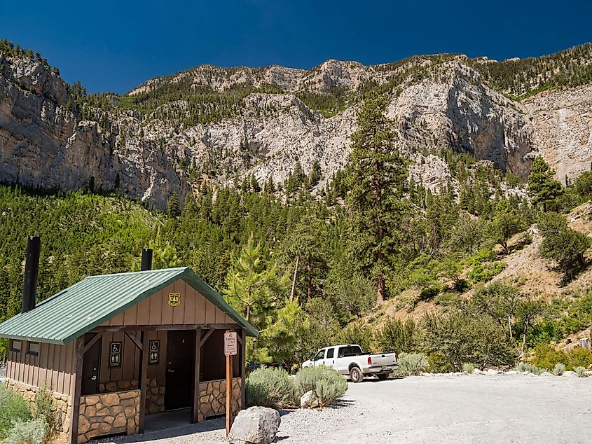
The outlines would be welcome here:
M 311 359 L 302 363 L 305 367 L 327 366 L 342 375 L 350 375 L 352 382 L 362 382 L 364 376 L 376 376 L 385 380 L 399 367 L 394 353 L 369 354 L 356 344 L 333 345 L 319 349 Z

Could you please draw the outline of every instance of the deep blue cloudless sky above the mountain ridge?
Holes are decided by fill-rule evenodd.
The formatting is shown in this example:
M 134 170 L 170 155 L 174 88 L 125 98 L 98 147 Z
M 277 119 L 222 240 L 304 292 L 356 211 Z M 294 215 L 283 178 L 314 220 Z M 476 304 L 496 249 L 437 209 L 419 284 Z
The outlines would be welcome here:
M 592 41 L 591 17 L 589 0 L 6 0 L 0 38 L 39 51 L 90 92 L 125 92 L 204 63 L 537 56 Z

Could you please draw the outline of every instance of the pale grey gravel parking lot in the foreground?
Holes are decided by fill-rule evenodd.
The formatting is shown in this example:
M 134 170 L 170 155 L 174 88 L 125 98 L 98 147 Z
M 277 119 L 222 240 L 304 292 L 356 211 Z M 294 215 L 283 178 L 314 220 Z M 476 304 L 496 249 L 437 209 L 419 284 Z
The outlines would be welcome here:
M 366 380 L 350 383 L 334 408 L 282 412 L 277 442 L 591 443 L 591 409 L 592 378 L 443 375 Z M 223 443 L 223 428 L 223 419 L 216 419 L 111 442 Z

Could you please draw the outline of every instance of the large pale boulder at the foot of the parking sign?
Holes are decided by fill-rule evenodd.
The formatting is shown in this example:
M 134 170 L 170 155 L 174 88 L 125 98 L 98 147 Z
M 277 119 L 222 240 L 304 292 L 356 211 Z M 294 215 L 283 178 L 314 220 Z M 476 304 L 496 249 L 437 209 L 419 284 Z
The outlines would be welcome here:
M 228 441 L 230 444 L 269 444 L 280 428 L 280 412 L 273 408 L 250 407 L 240 410 L 235 418 Z

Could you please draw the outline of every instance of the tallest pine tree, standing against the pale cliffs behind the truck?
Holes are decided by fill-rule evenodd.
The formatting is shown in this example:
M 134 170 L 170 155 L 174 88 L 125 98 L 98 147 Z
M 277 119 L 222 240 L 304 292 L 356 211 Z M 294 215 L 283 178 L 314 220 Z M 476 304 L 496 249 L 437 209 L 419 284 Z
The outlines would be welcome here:
M 357 114 L 347 171 L 356 254 L 376 279 L 378 304 L 385 298 L 387 259 L 401 247 L 406 162 L 397 148 L 388 99 L 371 92 Z

